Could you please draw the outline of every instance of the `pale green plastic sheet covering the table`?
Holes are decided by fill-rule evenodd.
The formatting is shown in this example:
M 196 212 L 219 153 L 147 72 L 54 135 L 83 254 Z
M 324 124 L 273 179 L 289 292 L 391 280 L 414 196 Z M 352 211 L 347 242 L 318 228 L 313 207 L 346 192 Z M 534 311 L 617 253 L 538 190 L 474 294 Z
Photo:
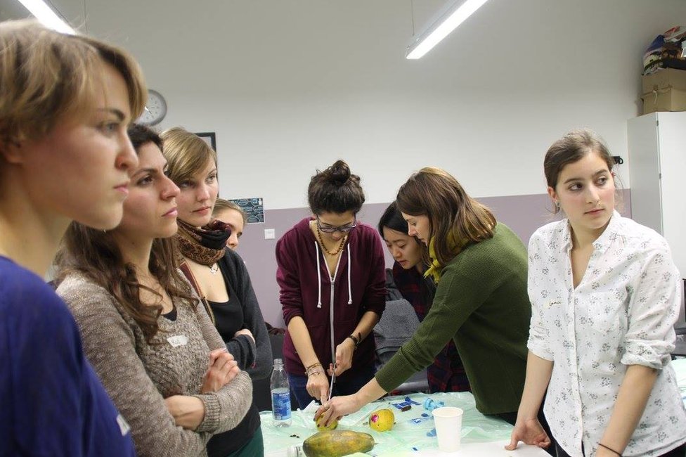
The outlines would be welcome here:
M 510 439 L 512 425 L 504 420 L 484 416 L 477 411 L 474 397 L 469 392 L 449 392 L 437 394 L 411 394 L 408 397 L 419 403 L 408 411 L 400 411 L 391 403 L 399 403 L 406 396 L 387 397 L 363 407 L 357 413 L 345 416 L 340 420 L 338 430 L 354 430 L 374 437 L 373 455 L 398 455 L 401 452 L 412 452 L 414 449 L 438 449 L 431 411 L 425 410 L 425 399 L 444 401 L 445 406 L 457 406 L 465 412 L 462 416 L 462 442 L 489 442 Z M 395 425 L 389 432 L 376 432 L 369 427 L 370 413 L 377 409 L 389 408 L 395 416 Z M 275 427 L 271 411 L 260 413 L 262 434 L 264 436 L 265 456 L 271 454 L 286 455 L 290 446 L 302 446 L 305 439 L 317 432 L 314 413 L 317 408 L 306 408 L 305 411 L 293 411 L 290 427 Z M 426 414 L 426 416 L 422 416 Z M 413 423 L 419 419 L 419 423 Z M 427 434 L 431 436 L 427 436 Z M 361 454 L 364 455 L 364 454 Z

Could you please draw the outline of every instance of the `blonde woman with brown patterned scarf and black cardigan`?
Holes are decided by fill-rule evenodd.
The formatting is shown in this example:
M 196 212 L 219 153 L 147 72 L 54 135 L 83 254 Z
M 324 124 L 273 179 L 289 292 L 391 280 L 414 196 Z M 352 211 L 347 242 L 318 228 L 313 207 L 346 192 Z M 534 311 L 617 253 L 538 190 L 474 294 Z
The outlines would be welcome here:
M 226 248 L 231 230 L 212 219 L 219 187 L 216 152 L 199 136 L 180 127 L 162 132 L 167 174 L 181 189 L 179 252 L 183 273 L 198 292 L 212 321 L 241 370 L 254 379 L 271 373 L 271 344 L 245 263 Z M 251 397 L 252 400 L 252 397 Z M 209 456 L 258 456 L 264 452 L 257 407 L 226 434 L 207 444 Z

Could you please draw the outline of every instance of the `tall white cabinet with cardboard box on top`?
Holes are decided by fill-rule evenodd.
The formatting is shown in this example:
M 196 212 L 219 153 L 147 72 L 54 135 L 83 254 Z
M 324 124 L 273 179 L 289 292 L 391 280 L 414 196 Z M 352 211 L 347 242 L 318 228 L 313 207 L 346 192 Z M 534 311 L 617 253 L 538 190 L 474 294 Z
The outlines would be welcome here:
M 686 112 L 628 121 L 631 217 L 661 233 L 686 277 Z

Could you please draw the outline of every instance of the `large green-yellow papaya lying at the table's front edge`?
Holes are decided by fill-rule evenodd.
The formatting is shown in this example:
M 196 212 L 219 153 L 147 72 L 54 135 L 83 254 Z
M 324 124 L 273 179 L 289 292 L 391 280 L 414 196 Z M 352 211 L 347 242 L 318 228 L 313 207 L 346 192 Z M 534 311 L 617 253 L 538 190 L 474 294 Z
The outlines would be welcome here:
M 342 457 L 371 451 L 373 447 L 372 435 L 351 430 L 324 430 L 315 433 L 302 444 L 307 457 Z

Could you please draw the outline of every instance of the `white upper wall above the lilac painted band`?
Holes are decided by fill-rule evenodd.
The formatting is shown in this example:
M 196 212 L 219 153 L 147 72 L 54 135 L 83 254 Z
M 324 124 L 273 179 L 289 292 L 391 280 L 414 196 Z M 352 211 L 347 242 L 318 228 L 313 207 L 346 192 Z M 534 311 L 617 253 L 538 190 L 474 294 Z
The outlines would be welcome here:
M 81 0 L 53 0 L 83 22 Z M 416 30 L 442 5 L 414 1 Z M 368 202 L 425 165 L 475 196 L 545 192 L 542 157 L 596 129 L 626 159 L 642 53 L 683 0 L 491 0 L 418 61 L 409 0 L 89 0 L 86 25 L 140 60 L 169 114 L 216 131 L 221 195 L 301 207 L 341 157 Z M 626 165 L 620 167 L 626 187 Z

